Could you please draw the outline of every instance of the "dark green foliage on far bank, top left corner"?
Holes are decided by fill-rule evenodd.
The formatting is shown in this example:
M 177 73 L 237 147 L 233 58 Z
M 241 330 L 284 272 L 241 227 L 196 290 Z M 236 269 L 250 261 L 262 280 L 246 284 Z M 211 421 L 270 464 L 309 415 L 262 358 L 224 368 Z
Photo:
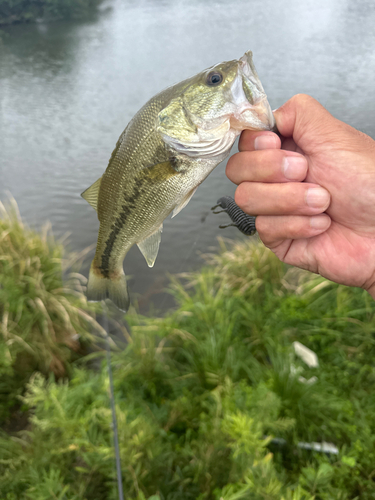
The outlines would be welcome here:
M 0 0 L 0 25 L 36 20 L 80 19 L 101 0 Z

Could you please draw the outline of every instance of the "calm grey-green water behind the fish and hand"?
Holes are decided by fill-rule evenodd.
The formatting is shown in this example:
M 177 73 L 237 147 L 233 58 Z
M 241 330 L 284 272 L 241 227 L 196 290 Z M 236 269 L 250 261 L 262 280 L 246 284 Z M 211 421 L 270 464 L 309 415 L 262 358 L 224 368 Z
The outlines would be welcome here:
M 276 108 L 313 95 L 375 137 L 375 9 L 372 0 L 114 0 L 84 22 L 4 29 L 0 44 L 0 199 L 16 198 L 30 223 L 70 232 L 71 247 L 96 240 L 98 221 L 80 193 L 105 170 L 118 136 L 156 92 L 225 59 L 254 52 Z M 224 165 L 164 225 L 155 267 L 137 248 L 125 259 L 132 292 L 159 308 L 166 273 L 197 268 L 216 246 L 232 194 Z

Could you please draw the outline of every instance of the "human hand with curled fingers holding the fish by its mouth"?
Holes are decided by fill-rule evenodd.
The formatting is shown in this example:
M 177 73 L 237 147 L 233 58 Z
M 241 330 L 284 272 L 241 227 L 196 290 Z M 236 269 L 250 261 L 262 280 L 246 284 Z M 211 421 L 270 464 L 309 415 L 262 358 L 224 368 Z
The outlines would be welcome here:
M 246 130 L 228 162 L 237 205 L 280 260 L 375 298 L 375 141 L 303 94 L 274 116 L 282 139 Z

